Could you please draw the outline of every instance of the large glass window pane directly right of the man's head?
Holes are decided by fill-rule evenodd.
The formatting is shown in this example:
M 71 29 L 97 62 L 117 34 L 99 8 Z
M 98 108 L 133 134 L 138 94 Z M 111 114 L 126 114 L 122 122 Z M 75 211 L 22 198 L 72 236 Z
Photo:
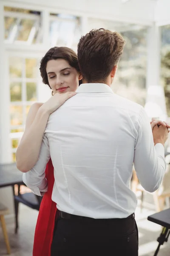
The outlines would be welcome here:
M 115 93 L 140 105 L 146 99 L 147 29 L 121 33 L 126 41 L 113 83 Z

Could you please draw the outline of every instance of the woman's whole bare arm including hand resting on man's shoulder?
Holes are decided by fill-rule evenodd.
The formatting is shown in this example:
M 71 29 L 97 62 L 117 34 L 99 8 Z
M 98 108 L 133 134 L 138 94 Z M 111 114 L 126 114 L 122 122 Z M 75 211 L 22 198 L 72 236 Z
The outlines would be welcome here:
M 50 114 L 75 94 L 74 92 L 56 93 L 44 104 L 35 103 L 31 106 L 26 120 L 26 129 L 16 154 L 17 169 L 21 172 L 28 172 L 37 163 Z

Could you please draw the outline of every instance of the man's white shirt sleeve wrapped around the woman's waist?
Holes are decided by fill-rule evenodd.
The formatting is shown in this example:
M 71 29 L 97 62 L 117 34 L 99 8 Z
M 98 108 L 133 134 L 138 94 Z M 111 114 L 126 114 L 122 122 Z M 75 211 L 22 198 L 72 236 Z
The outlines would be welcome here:
M 48 138 L 44 134 L 40 148 L 40 155 L 37 163 L 29 171 L 23 174 L 23 182 L 36 195 L 44 195 L 47 192 L 47 180 L 45 178 L 45 168 L 50 159 L 50 149 Z

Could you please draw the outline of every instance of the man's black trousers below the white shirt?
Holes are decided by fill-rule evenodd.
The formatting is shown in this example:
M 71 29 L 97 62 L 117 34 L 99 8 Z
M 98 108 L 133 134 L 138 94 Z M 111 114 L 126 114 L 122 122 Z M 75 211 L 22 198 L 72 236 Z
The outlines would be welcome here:
M 64 219 L 54 228 L 51 256 L 138 256 L 134 215 L 115 219 Z

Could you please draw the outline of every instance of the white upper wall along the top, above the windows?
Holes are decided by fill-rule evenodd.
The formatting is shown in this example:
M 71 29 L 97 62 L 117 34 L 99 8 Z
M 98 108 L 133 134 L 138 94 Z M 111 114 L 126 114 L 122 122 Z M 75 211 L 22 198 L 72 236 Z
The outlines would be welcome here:
M 68 12 L 75 15 L 88 15 L 91 17 L 150 25 L 154 20 L 155 1 L 153 0 L 0 0 L 5 5 L 24 4 L 31 9 L 51 8 L 51 12 Z

